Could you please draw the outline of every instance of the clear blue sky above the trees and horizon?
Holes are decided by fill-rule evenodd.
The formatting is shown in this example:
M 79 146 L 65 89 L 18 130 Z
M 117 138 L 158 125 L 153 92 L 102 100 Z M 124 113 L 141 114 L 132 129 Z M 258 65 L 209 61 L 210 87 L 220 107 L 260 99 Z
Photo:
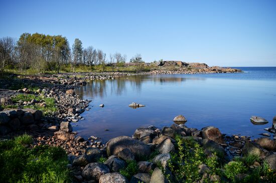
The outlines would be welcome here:
M 81 39 L 146 61 L 276 66 L 276 0 L 0 0 L 0 37 Z

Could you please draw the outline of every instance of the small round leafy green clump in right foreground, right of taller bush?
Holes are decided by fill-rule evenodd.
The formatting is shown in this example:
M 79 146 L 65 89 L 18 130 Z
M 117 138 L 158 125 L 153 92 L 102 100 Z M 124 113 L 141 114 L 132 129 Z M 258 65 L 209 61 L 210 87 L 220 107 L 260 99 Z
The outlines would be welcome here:
M 244 173 L 247 167 L 241 161 L 230 161 L 224 166 L 224 174 L 227 178 L 234 180 L 238 173 Z

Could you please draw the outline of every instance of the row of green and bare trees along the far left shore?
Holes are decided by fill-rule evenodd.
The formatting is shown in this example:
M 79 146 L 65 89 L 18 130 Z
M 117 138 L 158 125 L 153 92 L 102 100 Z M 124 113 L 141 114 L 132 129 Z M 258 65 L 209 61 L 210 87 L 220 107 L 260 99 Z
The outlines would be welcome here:
M 23 33 L 18 40 L 8 36 L 0 38 L 0 71 L 10 68 L 22 73 L 31 68 L 38 73 L 47 70 L 59 73 L 63 65 L 70 65 L 72 72 L 78 65 L 90 66 L 91 69 L 100 66 L 103 71 L 108 65 L 114 71 L 115 68 L 118 70 L 123 67 L 126 59 L 125 54 L 118 52 L 107 57 L 101 49 L 93 46 L 83 48 L 78 38 L 71 48 L 67 38 L 62 35 Z M 136 54 L 130 62 L 144 61 L 140 54 Z

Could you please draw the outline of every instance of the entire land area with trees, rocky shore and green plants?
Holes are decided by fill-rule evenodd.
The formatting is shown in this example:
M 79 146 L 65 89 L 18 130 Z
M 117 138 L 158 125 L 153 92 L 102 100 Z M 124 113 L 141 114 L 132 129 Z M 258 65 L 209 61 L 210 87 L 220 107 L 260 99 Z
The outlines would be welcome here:
M 100 49 L 83 49 L 79 39 L 71 49 L 61 35 L 24 33 L 18 41 L 4 37 L 0 45 L 1 182 L 275 182 L 276 143 L 268 137 L 223 135 L 214 126 L 196 129 L 177 121 L 139 127 L 131 137 L 105 143 L 93 131 L 84 139 L 71 126 L 90 109 L 74 91 L 87 80 L 240 69 L 145 63 L 140 54 L 129 62 L 120 53 L 107 59 Z M 275 133 L 276 117 L 271 125 L 267 130 Z

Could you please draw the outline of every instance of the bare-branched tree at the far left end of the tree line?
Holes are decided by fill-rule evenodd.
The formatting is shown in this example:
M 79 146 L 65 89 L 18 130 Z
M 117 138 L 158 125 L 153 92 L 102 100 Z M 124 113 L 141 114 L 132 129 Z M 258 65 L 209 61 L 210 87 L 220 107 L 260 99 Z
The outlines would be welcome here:
M 0 39 L 0 71 L 3 71 L 6 65 L 12 64 L 14 61 L 15 47 L 15 38 L 3 37 Z

